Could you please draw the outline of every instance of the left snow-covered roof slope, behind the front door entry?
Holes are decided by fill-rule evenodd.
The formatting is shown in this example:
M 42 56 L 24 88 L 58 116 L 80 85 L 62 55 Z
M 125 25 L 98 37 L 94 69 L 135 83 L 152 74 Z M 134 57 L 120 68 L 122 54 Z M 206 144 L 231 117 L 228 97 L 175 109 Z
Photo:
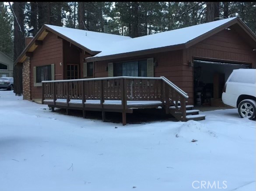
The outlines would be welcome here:
M 103 51 L 106 50 L 109 44 L 112 42 L 130 39 L 130 37 L 116 34 L 99 33 L 67 27 L 58 27 L 49 24 L 46 24 L 46 26 L 71 39 L 72 41 L 81 44 L 82 46 L 88 48 L 91 51 Z

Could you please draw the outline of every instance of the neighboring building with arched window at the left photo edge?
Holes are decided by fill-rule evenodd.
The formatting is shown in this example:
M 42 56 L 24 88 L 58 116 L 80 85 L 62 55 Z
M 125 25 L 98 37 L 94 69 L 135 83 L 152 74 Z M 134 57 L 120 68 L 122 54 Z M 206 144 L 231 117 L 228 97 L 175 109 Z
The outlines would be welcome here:
M 13 77 L 13 57 L 0 51 L 0 78 Z

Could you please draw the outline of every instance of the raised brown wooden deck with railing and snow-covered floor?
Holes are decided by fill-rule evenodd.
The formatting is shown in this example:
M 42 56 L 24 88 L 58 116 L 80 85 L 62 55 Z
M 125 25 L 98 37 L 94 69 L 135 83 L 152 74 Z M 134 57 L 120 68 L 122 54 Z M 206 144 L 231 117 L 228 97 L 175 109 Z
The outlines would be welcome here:
M 186 121 L 188 95 L 165 77 L 110 77 L 42 82 L 42 103 L 50 108 L 126 113 L 133 109 L 158 108 Z

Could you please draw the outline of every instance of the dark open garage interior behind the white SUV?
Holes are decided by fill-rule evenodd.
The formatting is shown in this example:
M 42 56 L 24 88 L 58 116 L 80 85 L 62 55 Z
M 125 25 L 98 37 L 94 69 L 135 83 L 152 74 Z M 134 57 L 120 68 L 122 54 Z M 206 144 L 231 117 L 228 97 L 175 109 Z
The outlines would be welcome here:
M 231 72 L 239 68 L 251 68 L 251 65 L 230 61 L 194 59 L 194 105 L 229 107 L 221 100 L 222 90 Z

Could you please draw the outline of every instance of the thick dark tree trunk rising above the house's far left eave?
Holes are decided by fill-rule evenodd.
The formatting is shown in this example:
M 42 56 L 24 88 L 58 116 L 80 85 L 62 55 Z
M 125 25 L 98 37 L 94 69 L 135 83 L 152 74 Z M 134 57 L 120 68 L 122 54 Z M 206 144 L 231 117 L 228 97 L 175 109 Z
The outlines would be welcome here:
M 14 2 L 14 60 L 18 58 L 25 48 L 24 30 L 24 7 L 25 2 Z M 16 18 L 15 18 L 16 16 Z

